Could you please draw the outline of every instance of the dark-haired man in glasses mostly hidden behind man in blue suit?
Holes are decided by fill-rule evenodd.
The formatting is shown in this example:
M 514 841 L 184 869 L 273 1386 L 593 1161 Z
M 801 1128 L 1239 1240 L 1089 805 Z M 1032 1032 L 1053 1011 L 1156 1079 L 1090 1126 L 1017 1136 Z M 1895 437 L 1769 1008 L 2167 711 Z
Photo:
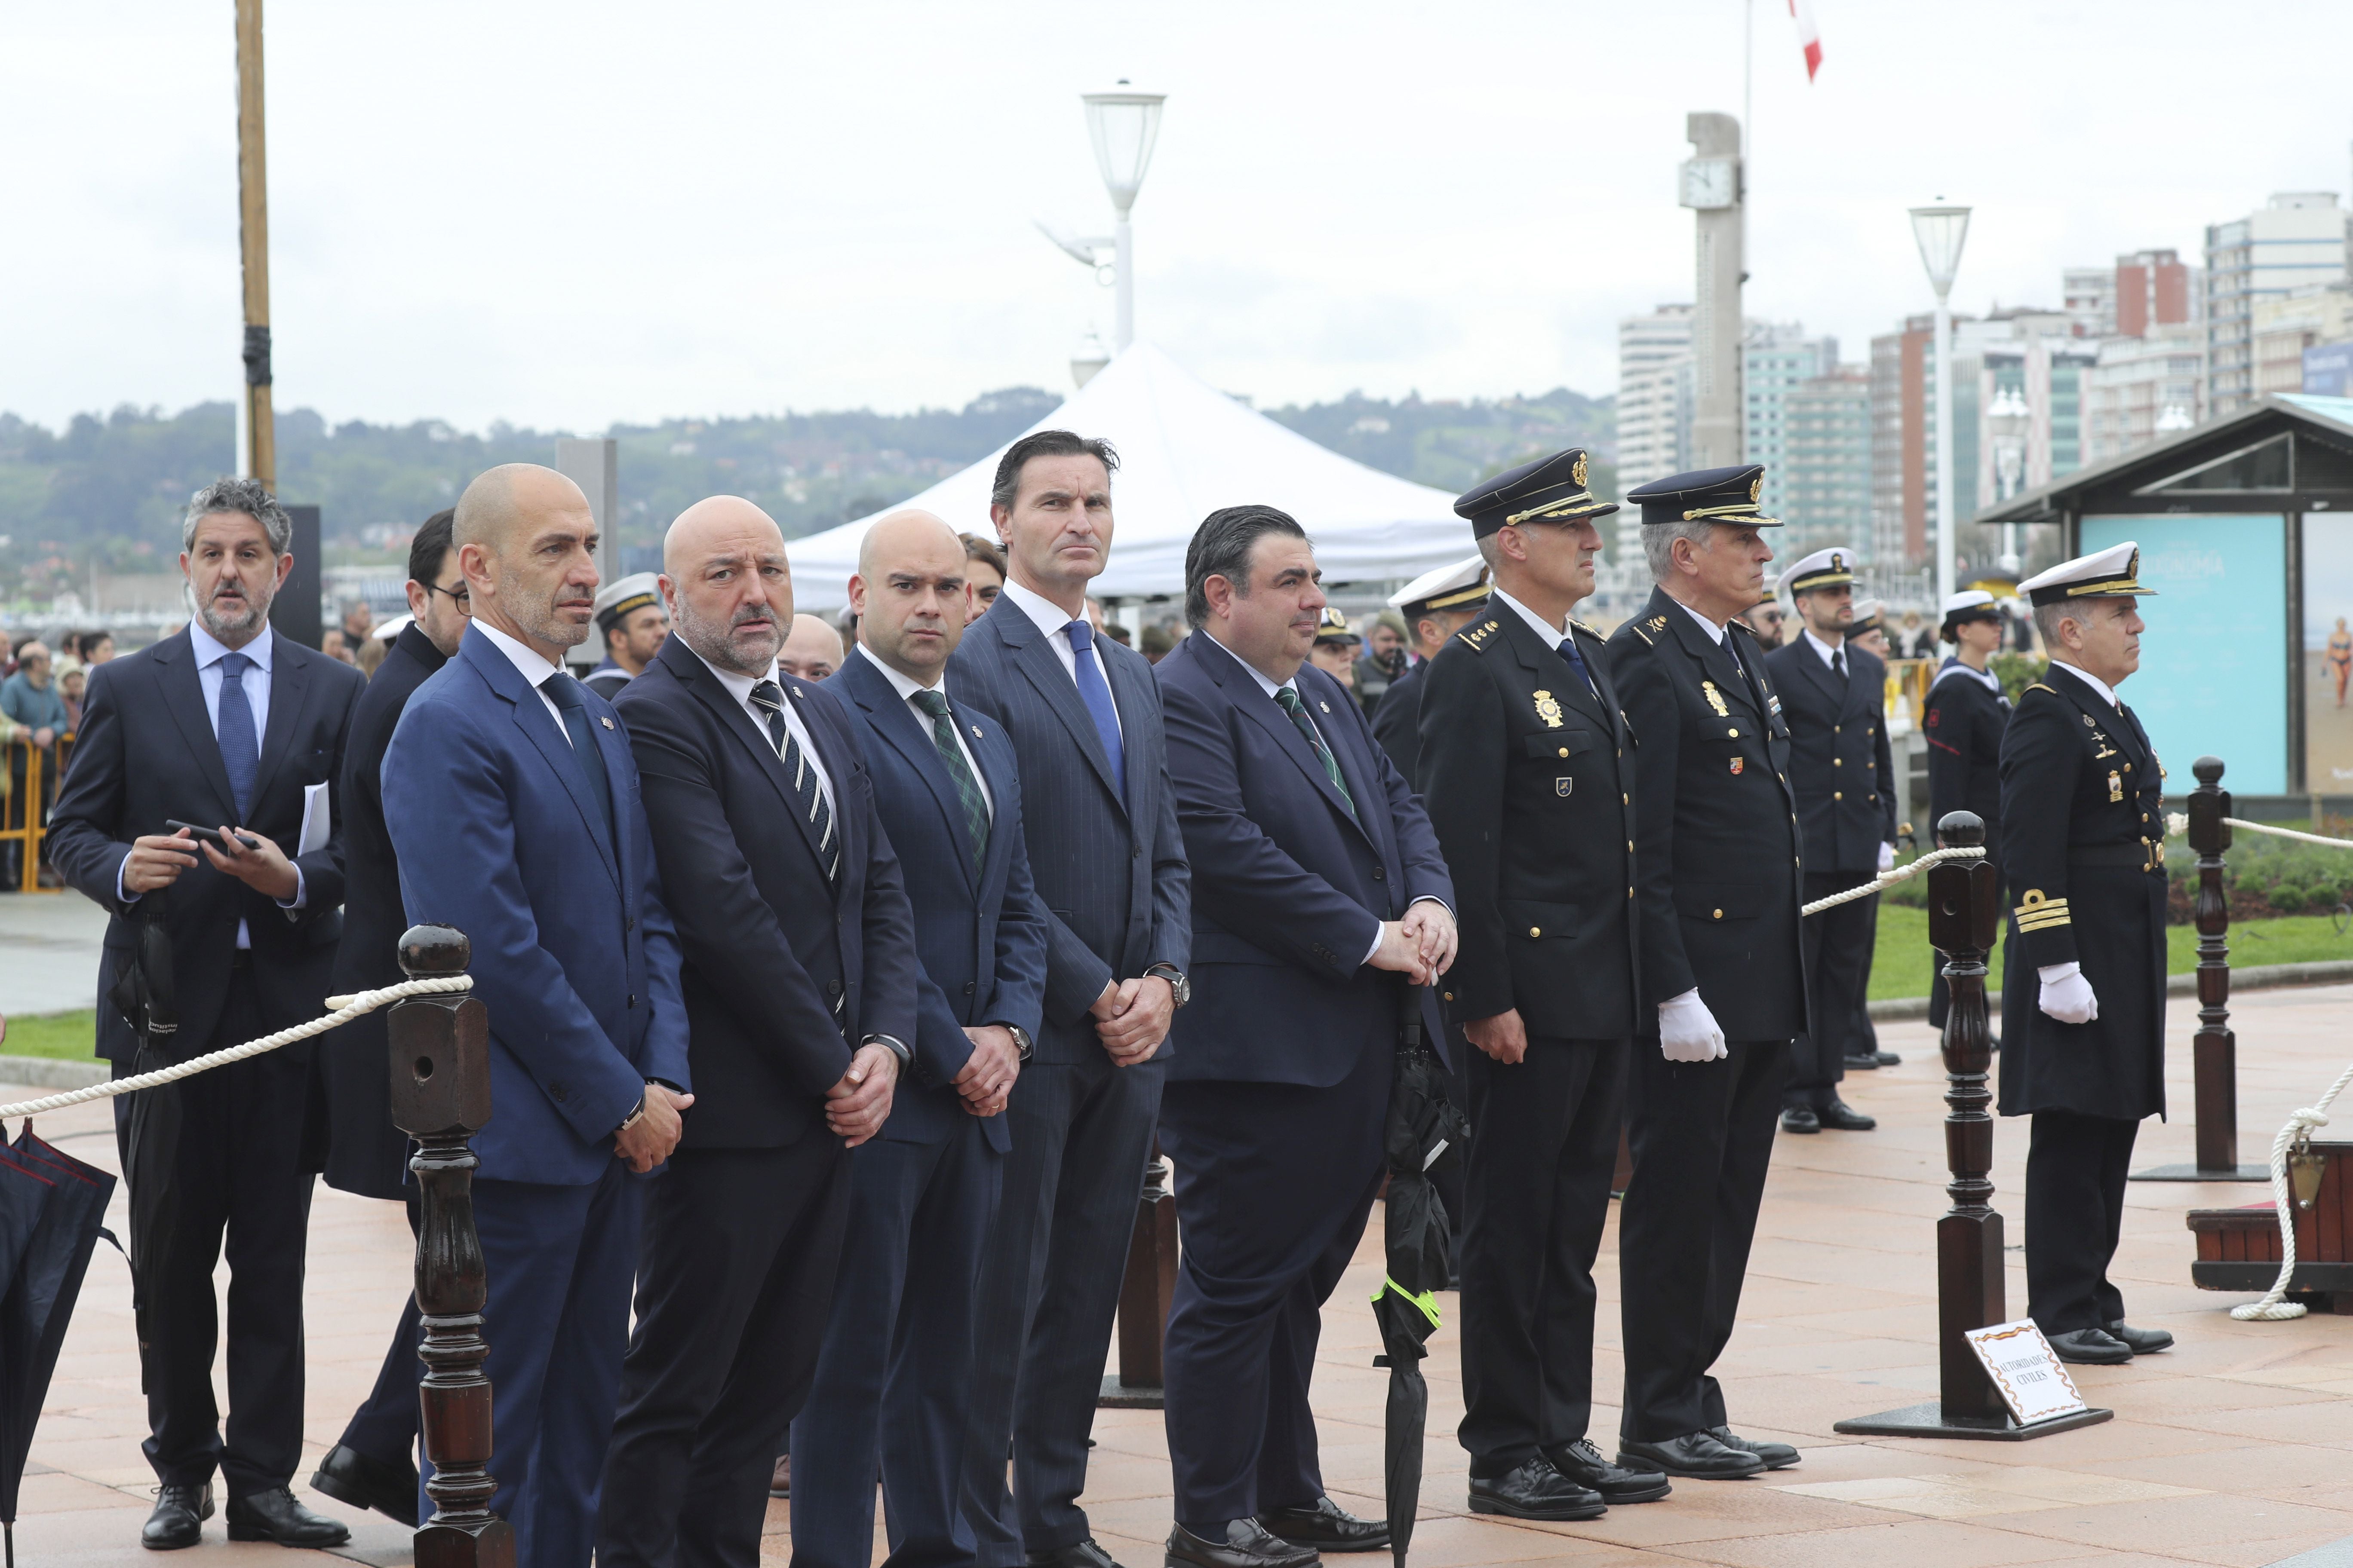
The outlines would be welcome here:
M 395 945 L 407 929 L 400 910 L 400 867 L 384 830 L 384 750 L 393 741 L 409 693 L 440 670 L 466 635 L 466 574 L 456 569 L 449 529 L 456 512 L 426 517 L 409 541 L 409 625 L 376 668 L 351 717 L 344 752 L 344 945 L 334 957 L 339 994 L 395 985 Z M 360 1197 L 409 1201 L 402 1187 L 409 1140 L 393 1126 L 391 1079 L 384 1074 L 386 1025 L 376 1011 L 346 1023 L 320 1041 L 327 1072 L 327 1185 Z M 416 1298 L 400 1309 L 400 1328 L 384 1356 L 384 1371 L 367 1403 L 351 1418 L 344 1439 L 320 1460 L 311 1486 L 372 1507 L 407 1526 L 416 1523 Z

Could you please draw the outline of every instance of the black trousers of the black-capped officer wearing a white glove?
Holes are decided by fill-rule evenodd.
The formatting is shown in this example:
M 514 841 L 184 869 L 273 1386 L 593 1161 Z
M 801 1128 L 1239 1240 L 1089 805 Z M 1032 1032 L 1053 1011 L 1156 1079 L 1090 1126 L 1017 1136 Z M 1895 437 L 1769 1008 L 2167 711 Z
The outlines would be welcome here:
M 1619 1432 L 1664 1443 L 1725 1425 L 1708 1368 L 1732 1340 L 1765 1199 L 1788 1041 L 1732 1041 L 1671 1063 L 1633 1041 L 1633 1185 L 1619 1215 L 1626 1410 Z

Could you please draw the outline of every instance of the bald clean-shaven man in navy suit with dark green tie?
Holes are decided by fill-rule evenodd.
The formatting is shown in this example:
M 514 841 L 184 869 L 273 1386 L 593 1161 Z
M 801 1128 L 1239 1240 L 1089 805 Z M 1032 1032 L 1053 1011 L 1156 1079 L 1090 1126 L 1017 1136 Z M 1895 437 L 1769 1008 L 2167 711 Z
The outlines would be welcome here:
M 866 1568 L 875 1453 L 896 1566 L 972 1563 L 958 1512 L 972 1410 L 972 1309 L 1005 1173 L 1005 1100 L 1045 1004 L 1045 910 L 1021 842 L 1012 741 L 953 698 L 965 543 L 892 512 L 859 543 L 859 644 L 824 698 L 859 726 L 915 905 L 915 1079 L 849 1159 L 849 1239 L 816 1387 L 793 1422 L 793 1561 Z

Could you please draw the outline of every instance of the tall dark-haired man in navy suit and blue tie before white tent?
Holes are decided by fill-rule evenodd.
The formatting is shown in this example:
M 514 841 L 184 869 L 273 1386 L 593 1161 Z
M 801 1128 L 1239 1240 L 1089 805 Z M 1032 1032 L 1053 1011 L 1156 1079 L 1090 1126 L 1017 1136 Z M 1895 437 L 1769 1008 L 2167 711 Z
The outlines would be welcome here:
M 1078 1493 L 1160 1112 L 1160 1041 L 1191 994 L 1160 686 L 1141 654 L 1087 625 L 1115 465 L 1111 442 L 1068 430 L 1005 449 L 988 515 L 1012 576 L 948 663 L 1014 741 L 1047 907 L 1045 1020 L 1007 1107 L 1014 1147 L 972 1333 L 965 1516 L 984 1568 L 1111 1563 Z

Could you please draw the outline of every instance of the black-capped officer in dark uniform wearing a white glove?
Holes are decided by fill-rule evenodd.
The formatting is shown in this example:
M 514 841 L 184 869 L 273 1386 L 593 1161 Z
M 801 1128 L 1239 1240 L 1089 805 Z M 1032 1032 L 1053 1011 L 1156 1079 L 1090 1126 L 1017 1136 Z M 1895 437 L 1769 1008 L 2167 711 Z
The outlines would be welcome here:
M 1635 491 L 1657 590 L 1609 637 L 1640 743 L 1633 1185 L 1619 1215 L 1626 1408 L 1619 1465 L 1732 1479 L 1798 1462 L 1725 1425 L 1708 1366 L 1732 1338 L 1765 1197 L 1788 1044 L 1807 1027 L 1805 860 L 1788 724 L 1755 635 L 1772 548 L 1765 468 L 1704 468 Z

